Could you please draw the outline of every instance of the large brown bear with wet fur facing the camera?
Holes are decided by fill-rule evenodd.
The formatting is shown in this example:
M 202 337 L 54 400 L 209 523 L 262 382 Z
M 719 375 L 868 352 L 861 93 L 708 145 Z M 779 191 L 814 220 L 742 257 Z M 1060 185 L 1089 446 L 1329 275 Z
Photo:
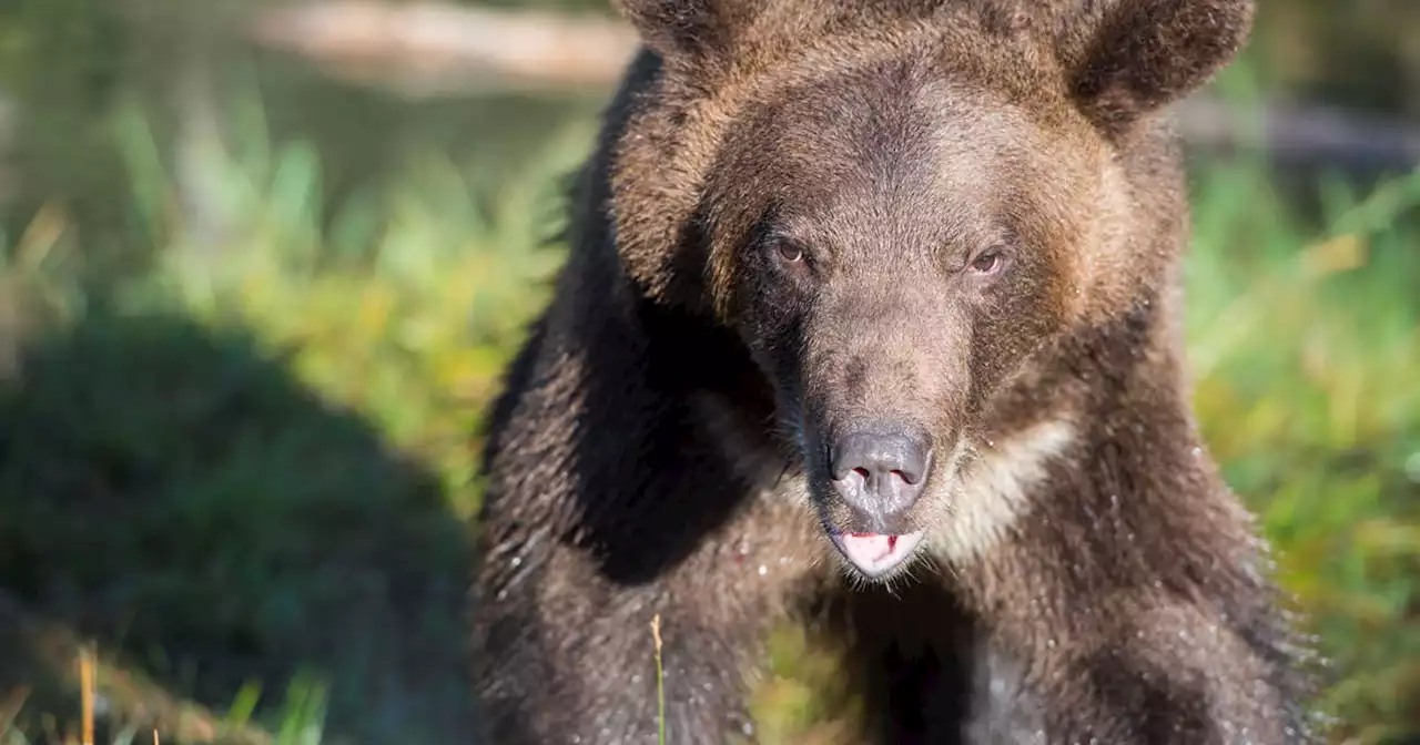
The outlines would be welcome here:
M 621 0 L 643 48 L 490 413 L 498 744 L 755 739 L 842 634 L 879 742 L 1306 742 L 1194 426 L 1166 105 L 1252 0 Z M 849 680 L 849 678 L 845 678 Z

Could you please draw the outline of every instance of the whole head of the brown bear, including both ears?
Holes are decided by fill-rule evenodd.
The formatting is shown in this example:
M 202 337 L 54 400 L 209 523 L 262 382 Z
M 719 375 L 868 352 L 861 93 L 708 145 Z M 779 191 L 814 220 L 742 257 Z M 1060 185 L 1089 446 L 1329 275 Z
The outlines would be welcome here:
M 1179 210 L 1120 153 L 1252 6 L 621 6 L 659 57 L 612 167 L 623 265 L 738 333 L 825 532 L 885 580 L 953 519 L 997 400 L 1164 284 L 1176 257 L 1139 236 Z

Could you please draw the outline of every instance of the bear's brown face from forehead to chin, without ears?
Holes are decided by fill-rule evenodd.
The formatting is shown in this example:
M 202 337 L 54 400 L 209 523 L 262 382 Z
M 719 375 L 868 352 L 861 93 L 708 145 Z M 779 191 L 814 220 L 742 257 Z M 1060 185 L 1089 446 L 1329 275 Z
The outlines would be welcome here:
M 717 301 L 772 382 L 826 532 L 869 578 L 950 519 L 967 443 L 1074 324 L 1100 233 L 1088 131 L 941 67 L 790 88 L 727 132 L 706 184 L 750 226 L 711 233 L 733 267 Z

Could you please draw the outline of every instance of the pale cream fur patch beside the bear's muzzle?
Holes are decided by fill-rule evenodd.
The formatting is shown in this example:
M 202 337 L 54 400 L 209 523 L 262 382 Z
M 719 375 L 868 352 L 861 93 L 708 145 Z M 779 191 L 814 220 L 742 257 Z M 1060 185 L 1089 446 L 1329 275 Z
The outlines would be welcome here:
M 1031 491 L 1045 478 L 1047 463 L 1065 454 L 1076 434 L 1075 420 L 1061 414 L 980 448 L 947 480 L 951 508 L 929 536 L 932 551 L 960 566 L 995 546 L 1030 511 Z

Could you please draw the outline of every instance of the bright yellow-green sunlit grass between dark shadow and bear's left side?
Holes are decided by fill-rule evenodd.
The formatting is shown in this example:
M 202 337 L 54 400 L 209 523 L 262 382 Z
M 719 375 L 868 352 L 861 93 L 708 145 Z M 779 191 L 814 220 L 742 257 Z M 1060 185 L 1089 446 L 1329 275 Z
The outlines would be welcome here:
M 213 182 L 227 184 L 224 221 L 240 230 L 220 245 L 197 245 L 173 209 L 178 196 L 162 190 L 168 182 L 149 184 L 139 209 L 169 216 L 158 228 L 169 248 L 138 291 L 158 289 L 160 301 L 176 299 L 204 322 L 250 328 L 270 349 L 290 351 L 304 382 L 375 417 L 398 446 L 437 451 L 430 465 L 470 517 L 467 441 L 513 342 L 547 299 L 545 281 L 561 261 L 542 245 L 558 219 L 557 179 L 582 152 L 589 125 L 569 128 L 544 159 L 503 182 L 487 211 L 469 173 L 423 152 L 392 189 L 362 194 L 322 230 L 312 150 L 273 148 L 260 112 L 247 118 L 239 132 L 253 135 L 207 163 Z M 136 112 L 122 132 L 135 175 L 158 173 Z

